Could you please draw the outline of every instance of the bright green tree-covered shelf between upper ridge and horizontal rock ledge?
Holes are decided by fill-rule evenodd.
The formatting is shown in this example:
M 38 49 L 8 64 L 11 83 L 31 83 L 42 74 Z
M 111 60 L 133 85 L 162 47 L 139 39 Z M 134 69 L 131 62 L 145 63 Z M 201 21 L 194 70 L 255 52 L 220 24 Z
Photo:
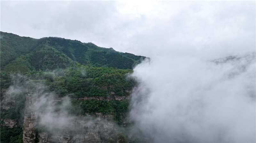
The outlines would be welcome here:
M 57 69 L 53 71 L 30 71 L 26 74 L 30 81 L 42 82 L 60 96 L 72 94 L 73 97 L 96 97 L 128 95 L 136 84 L 127 75 L 131 69 L 107 67 L 76 66 L 75 68 Z M 24 81 L 25 82 L 25 81 Z M 11 77 L 1 72 L 1 89 L 11 84 Z

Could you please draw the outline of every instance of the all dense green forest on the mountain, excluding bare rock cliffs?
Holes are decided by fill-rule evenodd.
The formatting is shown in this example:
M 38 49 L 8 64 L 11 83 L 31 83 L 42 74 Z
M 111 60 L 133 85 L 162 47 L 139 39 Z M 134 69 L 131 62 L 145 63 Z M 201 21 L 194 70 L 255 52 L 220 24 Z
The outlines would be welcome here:
M 129 99 L 106 99 L 130 94 L 136 81 L 129 78 L 129 74 L 146 57 L 78 40 L 58 37 L 33 39 L 6 32 L 0 34 L 1 104 L 6 98 L 5 91 L 20 76 L 22 86 L 40 83 L 58 97 L 70 97 L 73 104 L 70 112 L 73 114 L 113 115 L 113 121 L 123 124 L 122 119 L 129 110 Z M 83 97 L 104 99 L 76 100 Z M 26 95 L 22 93 L 4 103 L 8 109 L 1 106 L 2 143 L 22 142 L 25 102 Z M 18 124 L 8 128 L 4 126 L 4 119 L 14 119 Z

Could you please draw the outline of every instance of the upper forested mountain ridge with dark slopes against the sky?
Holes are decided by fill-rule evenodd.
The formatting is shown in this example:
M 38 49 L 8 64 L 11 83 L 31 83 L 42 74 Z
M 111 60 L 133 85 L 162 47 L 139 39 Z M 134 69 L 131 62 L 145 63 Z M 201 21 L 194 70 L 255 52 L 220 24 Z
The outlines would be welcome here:
M 93 43 L 82 43 L 78 40 L 58 37 L 33 39 L 6 32 L 0 34 L 1 69 L 8 66 L 10 62 L 12 62 L 12 65 L 18 64 L 18 61 L 15 61 L 17 58 L 30 64 L 15 69 L 21 72 L 27 71 L 24 68 L 34 68 L 36 70 L 66 68 L 76 64 L 76 62 L 81 65 L 97 67 L 132 69 L 141 59 L 146 58 L 130 53 L 117 52 L 113 48 L 102 48 Z

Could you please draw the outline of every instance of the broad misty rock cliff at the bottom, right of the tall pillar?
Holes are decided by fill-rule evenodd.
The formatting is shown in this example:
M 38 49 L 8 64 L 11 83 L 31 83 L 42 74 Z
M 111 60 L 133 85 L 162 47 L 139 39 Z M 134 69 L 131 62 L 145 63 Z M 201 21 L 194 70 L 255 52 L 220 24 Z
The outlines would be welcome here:
M 111 139 L 112 132 L 116 129 L 115 123 L 109 120 L 110 117 L 92 118 L 88 116 L 81 117 L 76 121 L 76 131 L 39 133 L 39 143 L 103 143 Z M 111 117 L 112 118 L 112 117 Z

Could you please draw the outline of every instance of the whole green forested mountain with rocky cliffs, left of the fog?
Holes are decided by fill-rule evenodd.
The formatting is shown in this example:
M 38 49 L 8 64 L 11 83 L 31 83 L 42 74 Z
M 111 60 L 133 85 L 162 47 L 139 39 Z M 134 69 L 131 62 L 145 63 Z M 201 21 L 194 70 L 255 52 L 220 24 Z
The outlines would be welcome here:
M 116 126 L 130 124 L 129 74 L 146 57 L 78 40 L 0 36 L 2 143 L 127 141 Z M 41 123 L 46 117 L 54 124 Z

